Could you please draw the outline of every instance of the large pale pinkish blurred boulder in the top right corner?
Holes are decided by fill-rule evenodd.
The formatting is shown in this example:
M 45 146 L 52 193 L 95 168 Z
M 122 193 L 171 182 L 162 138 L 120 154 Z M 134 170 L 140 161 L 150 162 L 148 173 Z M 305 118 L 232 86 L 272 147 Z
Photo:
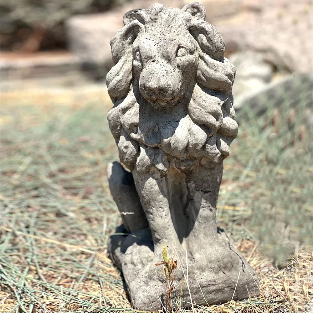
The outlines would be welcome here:
M 312 0 L 243 0 L 238 14 L 213 24 L 226 49 L 262 52 L 278 69 L 313 71 Z

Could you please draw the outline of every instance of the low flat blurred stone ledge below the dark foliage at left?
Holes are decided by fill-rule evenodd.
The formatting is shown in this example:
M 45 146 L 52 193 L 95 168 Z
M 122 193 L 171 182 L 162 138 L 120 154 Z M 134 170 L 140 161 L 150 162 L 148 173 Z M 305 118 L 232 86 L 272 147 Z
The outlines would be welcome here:
M 37 93 L 44 93 L 48 89 L 59 93 L 59 89 L 82 89 L 82 86 L 89 89 L 90 85 L 99 85 L 103 89 L 103 84 L 95 83 L 94 78 L 90 79 L 87 74 L 82 74 L 77 56 L 67 51 L 39 51 L 31 54 L 1 51 L 2 97 L 4 92 L 13 90 L 23 90 L 22 98 L 25 98 L 25 94 L 31 93 L 33 89 Z M 49 97 L 45 99 L 48 101 Z

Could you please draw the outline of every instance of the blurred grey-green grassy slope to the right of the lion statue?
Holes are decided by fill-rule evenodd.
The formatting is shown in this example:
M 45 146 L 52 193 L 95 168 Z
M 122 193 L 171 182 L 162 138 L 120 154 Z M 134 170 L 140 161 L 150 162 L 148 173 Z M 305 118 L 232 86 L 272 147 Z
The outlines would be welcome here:
M 264 252 L 280 263 L 294 245 L 313 245 L 312 82 L 258 101 L 264 114 L 257 116 L 249 104 L 237 114 L 239 134 L 223 175 L 232 189 L 221 189 L 218 221 L 233 226 L 245 220 Z M 241 214 L 227 214 L 225 204 L 239 206 Z

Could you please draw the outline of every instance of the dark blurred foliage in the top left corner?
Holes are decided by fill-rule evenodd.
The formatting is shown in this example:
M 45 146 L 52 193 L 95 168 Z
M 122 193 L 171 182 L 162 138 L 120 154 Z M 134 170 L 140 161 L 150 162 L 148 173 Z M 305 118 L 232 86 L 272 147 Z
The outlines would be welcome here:
M 1 48 L 27 52 L 66 45 L 64 21 L 74 14 L 104 12 L 125 0 L 2 0 Z

